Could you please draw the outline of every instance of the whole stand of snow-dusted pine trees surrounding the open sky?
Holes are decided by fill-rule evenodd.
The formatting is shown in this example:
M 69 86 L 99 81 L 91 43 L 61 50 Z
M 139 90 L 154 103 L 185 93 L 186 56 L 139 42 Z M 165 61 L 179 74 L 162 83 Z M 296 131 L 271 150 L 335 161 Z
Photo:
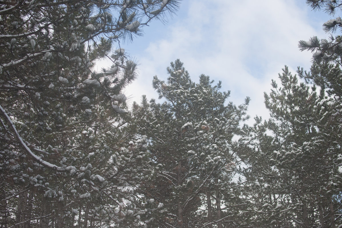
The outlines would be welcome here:
M 234 104 L 179 59 L 154 77 L 158 99 L 126 103 L 143 76 L 122 42 L 179 7 L 1 0 L 1 228 L 342 227 L 341 18 L 324 23 L 328 39 L 298 41 L 311 68 L 279 69 L 271 118 L 247 124 L 250 97 Z

